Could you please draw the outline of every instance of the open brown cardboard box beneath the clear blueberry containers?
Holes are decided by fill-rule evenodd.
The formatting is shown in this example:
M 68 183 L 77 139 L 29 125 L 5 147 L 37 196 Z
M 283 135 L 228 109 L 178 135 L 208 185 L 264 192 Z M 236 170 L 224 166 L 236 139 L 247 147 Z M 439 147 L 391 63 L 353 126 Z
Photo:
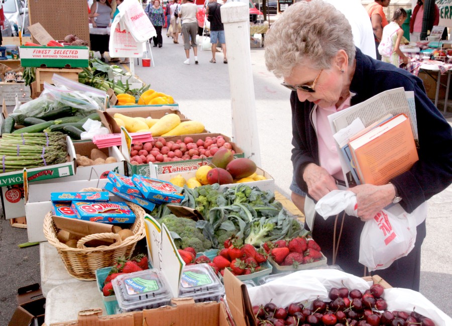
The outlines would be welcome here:
M 194 303 L 191 298 L 173 299 L 175 306 L 164 306 L 111 316 L 102 316 L 99 308 L 80 311 L 78 320 L 52 323 L 52 326 L 230 326 L 224 302 Z M 49 325 L 50 326 L 50 325 Z

